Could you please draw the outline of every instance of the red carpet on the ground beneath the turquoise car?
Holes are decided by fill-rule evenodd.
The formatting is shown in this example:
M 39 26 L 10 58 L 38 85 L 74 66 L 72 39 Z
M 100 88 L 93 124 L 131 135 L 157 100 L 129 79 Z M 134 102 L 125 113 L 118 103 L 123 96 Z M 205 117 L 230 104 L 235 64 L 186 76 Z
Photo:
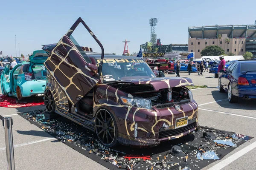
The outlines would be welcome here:
M 7 97 L 5 95 L 0 95 L 0 107 L 5 108 L 23 108 L 29 106 L 44 105 L 44 102 L 21 102 L 17 103 L 15 97 Z

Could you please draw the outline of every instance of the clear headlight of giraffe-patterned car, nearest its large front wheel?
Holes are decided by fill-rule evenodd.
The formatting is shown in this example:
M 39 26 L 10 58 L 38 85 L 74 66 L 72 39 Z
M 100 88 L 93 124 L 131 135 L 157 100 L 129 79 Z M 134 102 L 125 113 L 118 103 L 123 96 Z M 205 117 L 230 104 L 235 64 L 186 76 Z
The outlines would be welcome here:
M 151 109 L 151 100 L 148 99 L 134 99 L 134 98 L 128 98 L 128 97 L 121 97 L 122 102 L 125 105 L 134 106 L 137 108 L 145 108 L 145 109 Z

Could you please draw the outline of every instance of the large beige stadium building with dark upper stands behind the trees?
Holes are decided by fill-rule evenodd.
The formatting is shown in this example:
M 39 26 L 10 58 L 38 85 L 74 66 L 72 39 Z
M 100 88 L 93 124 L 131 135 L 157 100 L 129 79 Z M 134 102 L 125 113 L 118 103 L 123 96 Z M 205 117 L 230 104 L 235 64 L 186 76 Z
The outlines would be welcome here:
M 222 25 L 189 27 L 189 52 L 195 58 L 201 58 L 201 51 L 207 45 L 218 45 L 225 54 L 243 55 L 245 51 L 256 57 L 256 26 L 253 25 Z M 221 34 L 221 38 L 218 35 Z M 225 42 L 229 38 L 230 42 Z

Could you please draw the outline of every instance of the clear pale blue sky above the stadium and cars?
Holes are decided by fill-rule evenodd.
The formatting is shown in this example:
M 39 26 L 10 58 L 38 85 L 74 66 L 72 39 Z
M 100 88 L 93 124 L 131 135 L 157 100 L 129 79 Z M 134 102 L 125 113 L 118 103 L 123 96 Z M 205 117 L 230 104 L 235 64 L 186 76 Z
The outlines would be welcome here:
M 38 2 L 36 2 L 38 1 Z M 2 0 L 0 51 L 15 57 L 41 45 L 57 43 L 81 17 L 105 52 L 121 54 L 127 38 L 130 53 L 150 40 L 149 19 L 157 17 L 162 44 L 188 43 L 189 26 L 254 24 L 255 0 Z M 87 45 L 90 46 L 90 45 Z M 92 47 L 94 48 L 94 47 Z M 97 48 L 95 48 L 97 49 Z

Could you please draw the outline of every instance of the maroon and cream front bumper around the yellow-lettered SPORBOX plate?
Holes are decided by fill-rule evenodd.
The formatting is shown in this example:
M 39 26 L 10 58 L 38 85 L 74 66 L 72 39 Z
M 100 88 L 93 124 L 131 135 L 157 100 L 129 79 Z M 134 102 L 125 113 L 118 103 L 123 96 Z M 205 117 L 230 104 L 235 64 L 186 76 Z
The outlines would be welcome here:
M 125 131 L 123 129 L 124 126 L 119 127 L 117 139 L 119 143 L 135 146 L 156 146 L 160 142 L 186 136 L 199 127 L 198 105 L 195 101 L 189 101 L 189 103 L 185 101 L 184 104 L 180 102 L 179 105 L 182 111 L 176 111 L 173 106 L 169 105 L 172 104 L 157 105 L 152 109 L 155 112 L 143 112 L 140 109 L 133 111 L 131 109 L 131 116 L 129 114 L 128 119 L 131 117 L 135 121 L 129 122 L 127 119 L 127 129 Z M 175 129 L 175 120 L 184 116 L 188 117 L 188 125 Z M 137 124 L 137 129 L 135 128 L 135 123 Z M 127 133 L 125 133 L 126 131 Z M 134 137 L 136 132 L 137 135 Z

